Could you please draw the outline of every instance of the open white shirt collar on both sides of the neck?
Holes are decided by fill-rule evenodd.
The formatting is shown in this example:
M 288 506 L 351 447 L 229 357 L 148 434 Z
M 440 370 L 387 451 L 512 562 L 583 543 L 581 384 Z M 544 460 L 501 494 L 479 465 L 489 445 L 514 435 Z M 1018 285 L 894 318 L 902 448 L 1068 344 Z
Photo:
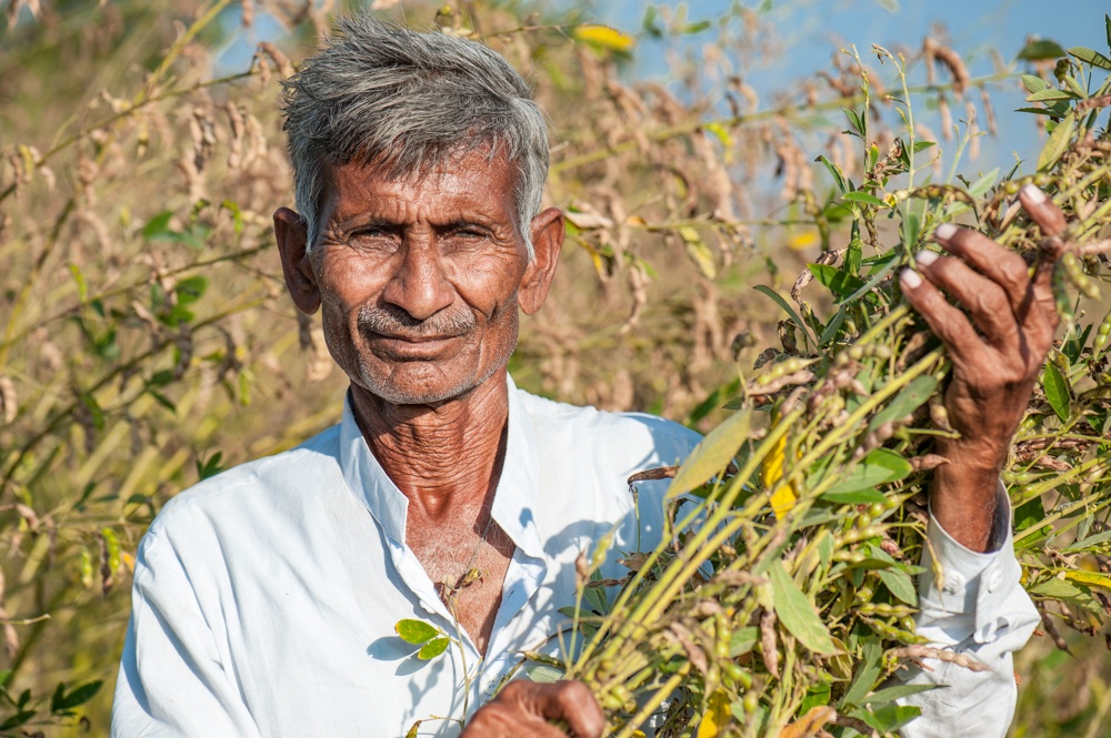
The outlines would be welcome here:
M 509 429 L 506 461 L 493 498 L 493 519 L 529 556 L 541 558 L 543 545 L 537 528 L 539 452 L 536 431 L 523 407 L 521 393 L 512 377 L 506 377 L 509 392 Z M 370 452 L 351 406 L 351 393 L 343 401 L 340 422 L 340 468 L 356 497 L 366 505 L 394 546 L 404 546 L 409 499 L 386 474 Z

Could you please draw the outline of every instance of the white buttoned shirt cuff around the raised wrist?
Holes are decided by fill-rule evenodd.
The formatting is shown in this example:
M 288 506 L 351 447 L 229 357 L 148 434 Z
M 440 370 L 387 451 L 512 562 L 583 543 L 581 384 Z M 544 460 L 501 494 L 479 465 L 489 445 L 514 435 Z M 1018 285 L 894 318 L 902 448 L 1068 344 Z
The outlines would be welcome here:
M 932 510 L 927 537 L 930 546 L 922 552 L 925 570 L 919 577 L 919 628 L 942 628 L 952 643 L 969 636 L 981 644 L 995 640 L 1013 625 L 1010 613 L 1014 607 L 1009 600 L 1021 590 L 1022 576 L 1011 536 L 1011 501 L 1002 483 L 995 492 L 988 553 L 959 544 Z

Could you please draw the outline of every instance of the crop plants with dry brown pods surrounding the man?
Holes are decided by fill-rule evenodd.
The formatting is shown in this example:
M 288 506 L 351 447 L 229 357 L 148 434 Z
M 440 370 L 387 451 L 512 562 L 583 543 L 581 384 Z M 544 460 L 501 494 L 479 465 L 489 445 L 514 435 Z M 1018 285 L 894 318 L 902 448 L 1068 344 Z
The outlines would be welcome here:
M 0 736 L 107 735 L 151 518 L 338 418 L 346 377 L 284 295 L 270 219 L 292 202 L 279 81 L 339 4 L 0 3 Z M 490 44 L 551 115 L 547 202 L 569 243 L 517 383 L 719 428 L 675 485 L 724 545 L 658 552 L 599 606 L 617 616 L 579 624 L 609 640 L 548 666 L 585 679 L 624 735 L 631 696 L 680 686 L 673 735 L 814 735 L 780 730 L 827 705 L 857 716 L 834 735 L 898 725 L 867 696 L 915 647 L 921 459 L 948 432 L 949 367 L 891 275 L 951 221 L 1064 253 L 1061 337 L 1003 476 L 1043 615 L 1015 659 L 1012 735 L 1107 735 L 1111 19 L 1077 13 L 1107 23 L 1098 49 L 1015 38 L 987 70 L 939 29 L 830 44 L 769 94 L 747 79 L 790 53 L 772 7 L 804 0 L 644 3 L 622 29 L 585 3 L 366 4 Z M 997 110 L 1001 90 L 1028 109 Z M 1039 135 L 1013 169 L 978 160 L 1017 127 Z M 1025 182 L 1067 228 L 1022 214 Z M 700 556 L 733 574 L 680 576 Z M 777 616 L 794 594 L 821 619 Z M 622 630 L 629 613 L 640 629 Z M 698 637 L 675 641 L 675 624 Z

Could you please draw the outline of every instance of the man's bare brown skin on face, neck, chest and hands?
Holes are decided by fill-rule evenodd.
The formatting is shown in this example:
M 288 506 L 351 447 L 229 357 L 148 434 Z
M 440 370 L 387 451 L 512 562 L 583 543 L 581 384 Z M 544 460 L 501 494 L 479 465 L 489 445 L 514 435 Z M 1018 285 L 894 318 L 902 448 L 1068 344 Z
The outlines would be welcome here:
M 507 162 L 482 151 L 409 180 L 336 166 L 311 250 L 304 222 L 288 209 L 274 213 L 290 294 L 304 313 L 322 310 L 363 435 L 410 501 L 407 543 L 433 582 L 460 572 L 460 552 L 476 552 L 471 560 L 490 574 L 458 603 L 483 653 L 513 550 L 489 526 L 508 417 L 506 363 L 518 310 L 532 314 L 543 304 L 563 241 L 562 214 L 540 213 L 529 260 L 512 184 Z M 1052 232 L 1052 206 L 1030 191 L 1021 198 Z M 935 475 L 933 510 L 954 538 L 983 550 L 998 473 L 1052 344 L 1051 265 L 1031 281 L 1021 257 L 982 234 L 940 231 L 951 255 L 920 259 L 921 276 L 904 273 L 902 285 L 953 361 L 945 404 L 962 437 L 939 444 L 949 464 Z M 599 738 L 603 728 L 582 684 L 512 681 L 474 714 L 463 738 Z

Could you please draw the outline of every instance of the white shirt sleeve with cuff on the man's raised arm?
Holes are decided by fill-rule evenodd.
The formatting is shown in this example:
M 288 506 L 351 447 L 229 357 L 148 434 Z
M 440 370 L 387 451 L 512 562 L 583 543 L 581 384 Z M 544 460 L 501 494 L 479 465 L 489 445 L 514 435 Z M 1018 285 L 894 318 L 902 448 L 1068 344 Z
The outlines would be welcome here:
M 1040 616 L 1019 584 L 1022 569 L 1014 557 L 1011 504 L 1002 484 L 997 496 L 990 553 L 957 543 L 930 515 L 931 545 L 922 554 L 925 572 L 918 587 L 918 634 L 931 647 L 968 655 L 988 670 L 924 659 L 928 668 L 899 671 L 908 684 L 938 687 L 900 700 L 922 709 L 921 717 L 902 728 L 904 738 L 1002 738 L 1011 725 L 1018 696 L 1011 654 L 1027 643 Z

